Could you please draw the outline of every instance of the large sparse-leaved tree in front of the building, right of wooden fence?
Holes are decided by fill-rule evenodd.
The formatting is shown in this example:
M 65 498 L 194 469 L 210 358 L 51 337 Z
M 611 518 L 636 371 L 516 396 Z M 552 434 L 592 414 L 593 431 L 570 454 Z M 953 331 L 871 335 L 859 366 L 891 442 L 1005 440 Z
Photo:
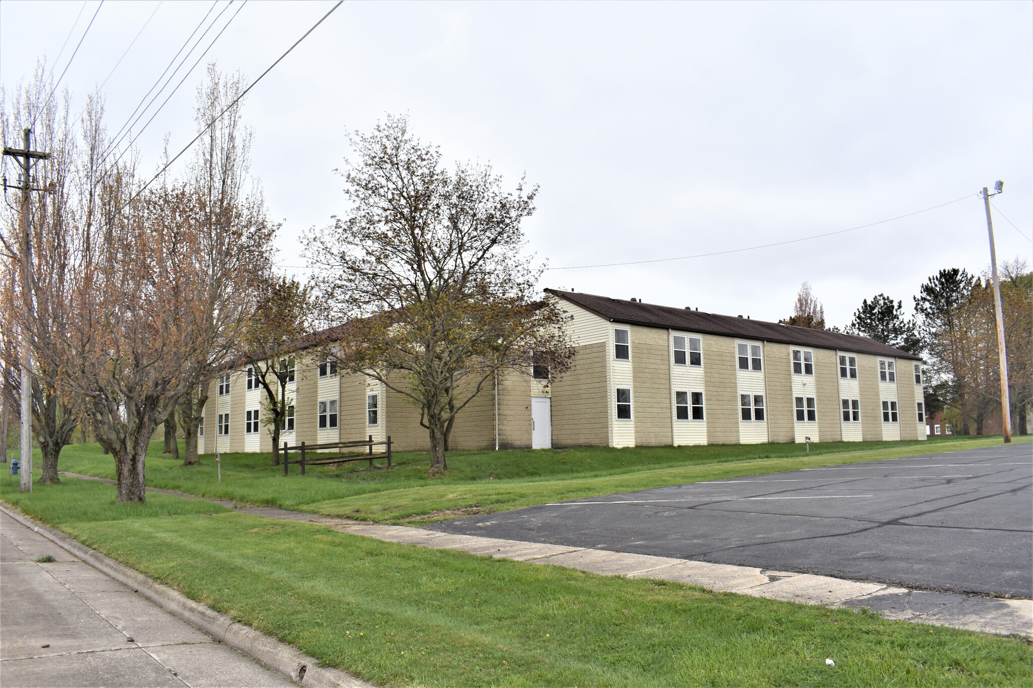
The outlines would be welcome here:
M 488 165 L 449 172 L 404 117 L 351 143 L 350 207 L 308 240 L 328 318 L 346 323 L 326 353 L 419 407 L 442 471 L 457 415 L 486 384 L 529 374 L 536 357 L 554 376 L 569 368 L 566 316 L 539 298 L 541 268 L 522 255 L 537 189 L 503 191 Z

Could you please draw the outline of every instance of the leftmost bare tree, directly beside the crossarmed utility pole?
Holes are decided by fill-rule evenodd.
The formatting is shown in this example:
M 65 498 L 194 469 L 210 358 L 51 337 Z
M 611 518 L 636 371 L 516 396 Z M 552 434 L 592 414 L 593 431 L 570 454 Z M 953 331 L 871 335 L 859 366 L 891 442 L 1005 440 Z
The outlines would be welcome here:
M 31 263 L 26 266 L 25 247 L 20 237 L 19 214 L 6 207 L 0 227 L 0 242 L 9 256 L 10 264 L 19 269 L 28 267 L 29 292 L 22 289 L 22 280 L 10 280 L 3 290 L 5 325 L 15 325 L 32 331 L 48 331 L 64 318 L 67 296 L 68 225 L 72 223 L 69 194 L 79 155 L 75 136 L 69 128 L 67 94 L 50 99 L 53 76 L 46 77 L 42 65 L 37 65 L 32 80 L 15 92 L 8 107 L 3 99 L 2 129 L 4 144 L 21 145 L 21 132 L 31 125 L 35 145 L 51 154 L 37 164 L 31 182 L 35 191 L 30 196 Z M 15 143 L 17 141 L 17 143 Z M 5 159 L 6 165 L 6 159 Z M 10 333 L 8 336 L 14 336 Z M 31 394 L 33 434 L 42 455 L 40 483 L 57 483 L 58 458 L 71 441 L 76 418 L 53 382 L 45 359 L 34 361 Z

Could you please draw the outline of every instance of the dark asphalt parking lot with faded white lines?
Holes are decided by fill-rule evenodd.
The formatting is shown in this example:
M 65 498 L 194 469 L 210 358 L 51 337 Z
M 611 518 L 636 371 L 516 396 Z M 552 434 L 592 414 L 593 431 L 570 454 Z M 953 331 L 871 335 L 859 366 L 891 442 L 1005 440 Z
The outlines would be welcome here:
M 448 532 L 1033 596 L 1033 445 L 612 494 Z

